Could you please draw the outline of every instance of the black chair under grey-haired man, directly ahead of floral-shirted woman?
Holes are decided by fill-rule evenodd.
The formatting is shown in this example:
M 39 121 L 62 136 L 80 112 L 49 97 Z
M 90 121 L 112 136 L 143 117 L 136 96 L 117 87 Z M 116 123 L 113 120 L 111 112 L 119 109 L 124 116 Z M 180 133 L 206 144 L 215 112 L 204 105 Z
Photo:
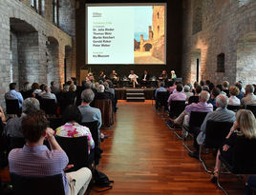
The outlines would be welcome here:
M 81 123 L 81 125 L 88 127 L 92 133 L 93 139 L 95 141 L 95 148 L 91 149 L 91 152 L 94 152 L 95 154 L 95 165 L 97 166 L 99 164 L 99 159 L 101 158 L 100 140 L 99 140 L 98 129 L 97 129 L 98 121 Z

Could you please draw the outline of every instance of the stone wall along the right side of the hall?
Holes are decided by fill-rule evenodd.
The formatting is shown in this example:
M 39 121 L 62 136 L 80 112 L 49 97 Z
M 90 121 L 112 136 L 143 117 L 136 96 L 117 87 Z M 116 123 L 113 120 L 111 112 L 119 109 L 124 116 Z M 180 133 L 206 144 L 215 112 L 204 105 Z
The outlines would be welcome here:
M 195 12 L 199 10 L 202 10 L 202 17 Z M 253 0 L 183 0 L 182 77 L 186 82 L 195 81 L 195 62 L 199 59 L 200 80 L 209 79 L 215 84 L 224 80 L 231 84 L 237 80 L 243 80 L 245 84 L 255 83 L 256 75 L 252 73 L 256 68 L 255 54 L 247 55 L 250 59 L 247 62 L 244 60 L 243 71 L 241 66 L 238 67 L 238 48 L 242 47 L 238 47 L 239 41 L 246 34 L 256 31 L 255 10 L 256 1 Z M 196 28 L 198 32 L 193 33 L 193 26 L 199 27 L 201 22 L 194 21 L 198 18 L 202 18 L 202 30 Z M 246 42 L 244 45 L 248 46 L 248 51 L 253 44 Z M 220 53 L 225 56 L 224 72 L 217 72 L 217 56 Z

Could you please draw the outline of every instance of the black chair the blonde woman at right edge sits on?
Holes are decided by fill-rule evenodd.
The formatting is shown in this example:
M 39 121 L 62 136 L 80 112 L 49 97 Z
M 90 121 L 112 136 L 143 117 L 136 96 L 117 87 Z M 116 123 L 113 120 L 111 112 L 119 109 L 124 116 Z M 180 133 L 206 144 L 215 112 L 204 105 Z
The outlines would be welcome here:
M 220 155 L 220 160 L 230 173 L 236 175 L 256 174 L 256 155 L 253 148 L 256 148 L 256 139 L 247 139 L 244 136 L 238 136 L 233 148 L 231 163 L 226 161 L 222 155 Z M 224 194 L 227 194 L 220 183 L 220 176 L 221 172 L 217 179 L 217 185 L 224 191 Z

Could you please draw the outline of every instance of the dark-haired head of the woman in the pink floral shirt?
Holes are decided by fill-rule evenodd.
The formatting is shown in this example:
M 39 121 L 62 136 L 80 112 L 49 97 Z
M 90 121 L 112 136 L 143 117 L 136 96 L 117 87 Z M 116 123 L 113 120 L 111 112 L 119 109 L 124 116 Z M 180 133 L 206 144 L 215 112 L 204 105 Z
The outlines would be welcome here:
M 68 123 L 68 122 L 79 123 L 82 119 L 82 115 L 78 107 L 76 107 L 75 105 L 70 105 L 66 107 L 66 109 L 62 113 L 62 119 L 64 123 Z

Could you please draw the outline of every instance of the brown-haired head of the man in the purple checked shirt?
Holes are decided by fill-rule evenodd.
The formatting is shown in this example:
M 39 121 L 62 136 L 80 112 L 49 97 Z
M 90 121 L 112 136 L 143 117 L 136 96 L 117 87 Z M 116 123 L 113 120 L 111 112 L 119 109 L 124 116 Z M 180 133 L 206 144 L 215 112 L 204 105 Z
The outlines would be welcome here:
M 48 124 L 45 113 L 41 110 L 25 116 L 21 128 L 26 142 L 36 143 L 40 138 L 45 137 Z

